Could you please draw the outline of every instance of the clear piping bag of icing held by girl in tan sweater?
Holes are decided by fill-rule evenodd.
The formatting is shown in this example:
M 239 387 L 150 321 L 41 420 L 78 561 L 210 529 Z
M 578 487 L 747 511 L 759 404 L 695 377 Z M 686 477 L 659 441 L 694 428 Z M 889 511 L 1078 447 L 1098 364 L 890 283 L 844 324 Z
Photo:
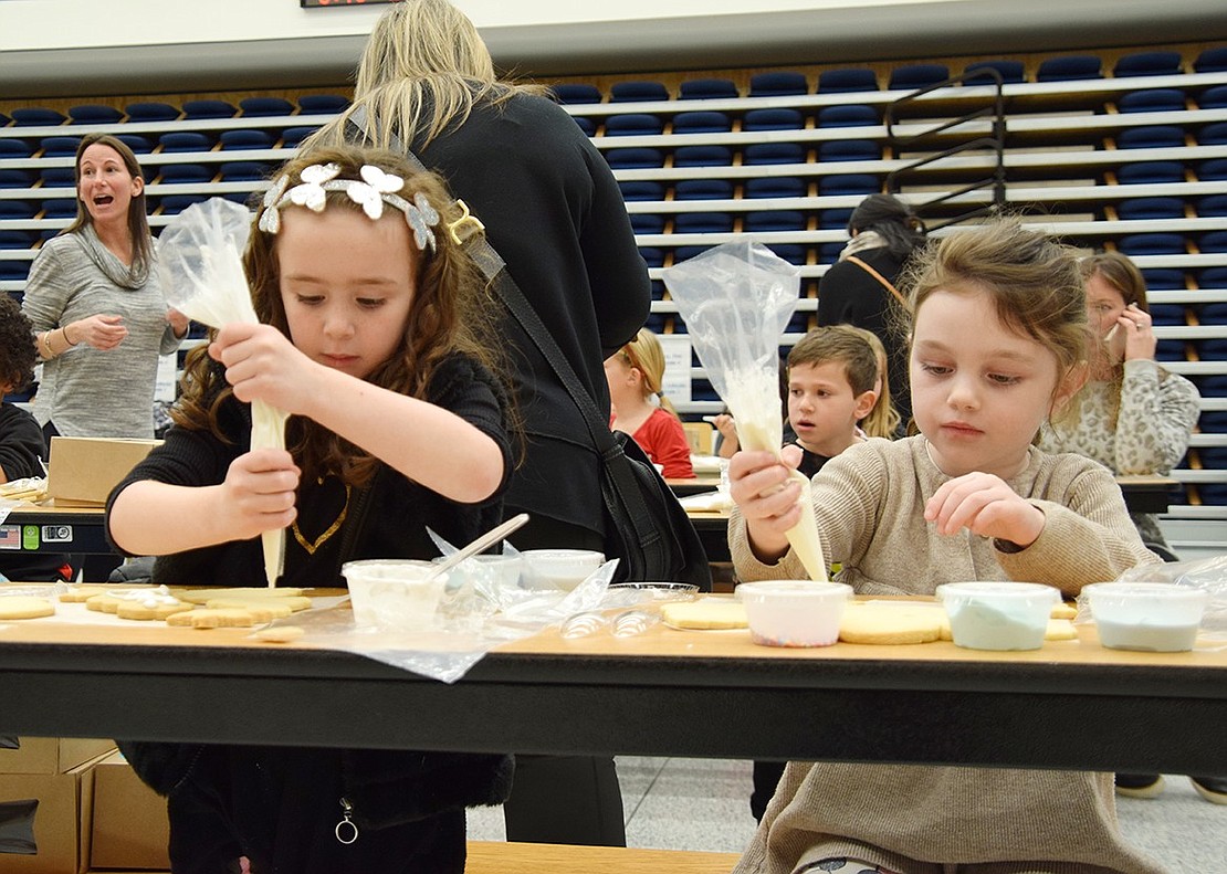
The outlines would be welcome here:
M 661 276 L 707 378 L 750 450 L 780 457 L 779 343 L 796 309 L 800 271 L 761 243 L 736 239 L 666 267 Z M 799 471 L 801 519 L 788 542 L 814 580 L 827 579 L 827 563 L 810 500 L 810 481 Z

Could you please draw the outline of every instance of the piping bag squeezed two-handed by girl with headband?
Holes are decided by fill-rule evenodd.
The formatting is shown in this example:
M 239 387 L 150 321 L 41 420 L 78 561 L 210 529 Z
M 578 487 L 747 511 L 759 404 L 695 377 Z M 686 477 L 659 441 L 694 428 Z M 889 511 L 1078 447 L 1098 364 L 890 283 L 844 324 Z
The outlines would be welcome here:
M 210 327 L 258 322 L 242 254 L 252 228 L 245 207 L 221 197 L 193 203 L 172 218 L 157 241 L 162 293 L 171 306 Z M 252 449 L 286 447 L 286 413 L 252 405 Z M 260 534 L 264 572 L 275 586 L 285 563 L 283 528 Z

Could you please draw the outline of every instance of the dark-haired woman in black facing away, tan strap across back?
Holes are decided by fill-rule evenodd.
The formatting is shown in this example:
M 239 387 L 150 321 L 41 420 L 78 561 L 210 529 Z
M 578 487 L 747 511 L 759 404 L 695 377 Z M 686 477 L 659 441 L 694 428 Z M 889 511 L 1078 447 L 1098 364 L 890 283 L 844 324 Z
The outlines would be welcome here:
M 872 331 L 886 347 L 891 401 L 907 425 L 907 340 L 896 330 L 903 306 L 896 288 L 908 257 L 925 244 L 924 223 L 912 207 L 888 194 L 871 194 L 848 219 L 852 240 L 818 282 L 818 325 L 855 325 Z

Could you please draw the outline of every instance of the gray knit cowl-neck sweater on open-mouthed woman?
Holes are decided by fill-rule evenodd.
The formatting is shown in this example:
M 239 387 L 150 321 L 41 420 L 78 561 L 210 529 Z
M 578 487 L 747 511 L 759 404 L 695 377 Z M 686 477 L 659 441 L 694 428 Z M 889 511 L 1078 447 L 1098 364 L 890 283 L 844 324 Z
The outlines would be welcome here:
M 22 311 L 36 332 L 91 315 L 119 315 L 128 327 L 124 342 L 109 352 L 77 343 L 44 363 L 34 417 L 39 424 L 54 422 L 65 436 L 152 438 L 158 355 L 174 352 L 179 341 L 166 320 L 157 271 L 125 288 L 110 276 L 126 267 L 108 251 L 102 257 L 109 259 L 107 271 L 79 234 L 60 234 L 43 244 L 29 267 Z

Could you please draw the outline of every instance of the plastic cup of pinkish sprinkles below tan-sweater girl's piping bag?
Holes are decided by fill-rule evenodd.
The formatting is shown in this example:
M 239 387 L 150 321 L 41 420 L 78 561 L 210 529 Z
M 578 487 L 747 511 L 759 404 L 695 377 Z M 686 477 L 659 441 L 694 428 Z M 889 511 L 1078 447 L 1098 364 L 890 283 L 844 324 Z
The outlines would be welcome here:
M 763 580 L 737 586 L 750 636 L 763 646 L 831 646 L 852 586 L 812 580 Z

